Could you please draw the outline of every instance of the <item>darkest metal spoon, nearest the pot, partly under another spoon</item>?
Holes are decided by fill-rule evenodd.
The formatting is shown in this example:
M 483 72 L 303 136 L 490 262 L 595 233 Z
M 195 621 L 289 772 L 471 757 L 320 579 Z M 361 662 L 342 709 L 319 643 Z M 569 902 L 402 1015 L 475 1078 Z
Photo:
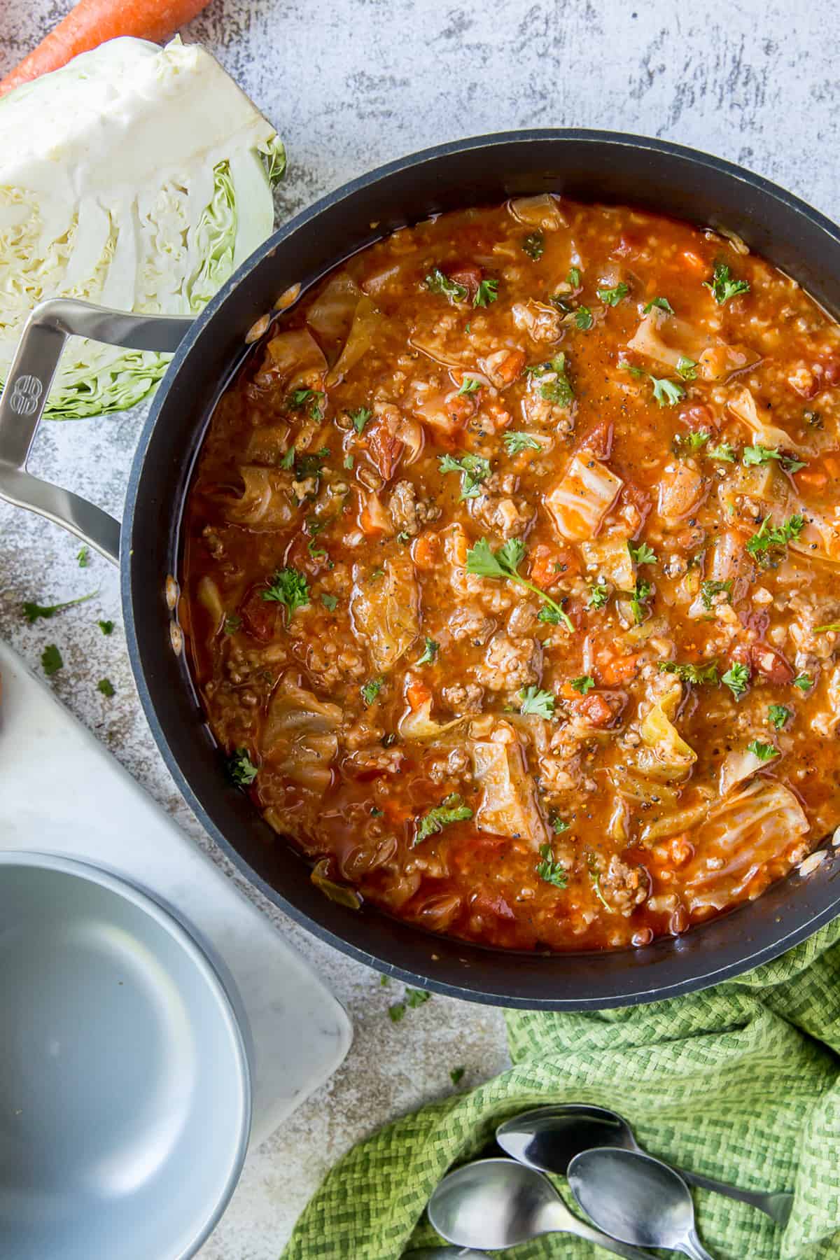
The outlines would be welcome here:
M 514 1116 L 496 1129 L 496 1142 L 509 1155 L 542 1173 L 564 1177 L 569 1162 L 581 1152 L 594 1147 L 623 1147 L 641 1150 L 632 1129 L 617 1111 L 588 1102 L 560 1102 L 540 1106 Z M 737 1198 L 742 1203 L 766 1212 L 778 1225 L 787 1225 L 793 1206 L 793 1196 L 787 1191 L 777 1194 L 762 1191 L 739 1189 L 727 1182 L 678 1172 L 690 1186 L 712 1189 L 717 1194 Z

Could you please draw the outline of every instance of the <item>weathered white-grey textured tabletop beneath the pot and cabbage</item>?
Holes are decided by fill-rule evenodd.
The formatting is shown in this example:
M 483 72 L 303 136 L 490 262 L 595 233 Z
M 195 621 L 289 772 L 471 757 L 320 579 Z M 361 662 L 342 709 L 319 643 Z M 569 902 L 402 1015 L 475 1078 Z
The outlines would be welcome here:
M 68 8 L 5 0 L 0 73 Z M 283 215 L 424 145 L 506 127 L 586 126 L 730 158 L 840 217 L 835 0 L 213 0 L 184 34 L 207 44 L 285 137 Z M 118 514 L 142 415 L 48 425 L 33 467 Z M 65 668 L 53 680 L 57 694 L 208 844 L 146 732 L 116 572 L 98 558 L 79 570 L 77 551 L 67 534 L 0 504 L 0 634 L 35 668 L 44 644 L 59 644 Z M 20 617 L 24 598 L 53 602 L 93 590 L 96 600 L 60 620 L 29 627 Z M 97 617 L 117 622 L 110 639 Z M 117 688 L 112 701 L 96 690 L 106 675 Z M 251 1157 L 203 1260 L 273 1260 L 353 1142 L 447 1091 L 450 1067 L 466 1065 L 470 1084 L 505 1063 L 497 1012 L 434 998 L 392 1026 L 387 1007 L 398 987 L 380 988 L 378 975 L 263 908 L 346 1003 L 356 1040 L 330 1085 Z

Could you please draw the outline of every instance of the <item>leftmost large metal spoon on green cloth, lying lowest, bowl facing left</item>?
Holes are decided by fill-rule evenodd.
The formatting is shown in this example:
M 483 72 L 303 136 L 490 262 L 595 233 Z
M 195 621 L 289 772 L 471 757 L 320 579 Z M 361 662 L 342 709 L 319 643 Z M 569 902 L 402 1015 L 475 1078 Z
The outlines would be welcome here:
M 496 1251 L 542 1234 L 576 1234 L 628 1260 L 654 1260 L 649 1251 L 616 1242 L 579 1221 L 548 1177 L 515 1159 L 477 1159 L 456 1168 L 432 1194 L 428 1218 L 457 1246 Z

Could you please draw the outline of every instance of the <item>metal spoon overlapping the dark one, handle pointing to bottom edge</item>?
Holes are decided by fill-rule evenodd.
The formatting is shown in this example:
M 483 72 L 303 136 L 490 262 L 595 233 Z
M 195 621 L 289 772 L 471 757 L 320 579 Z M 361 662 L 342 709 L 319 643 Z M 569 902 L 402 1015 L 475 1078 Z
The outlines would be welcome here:
M 698 1237 L 691 1191 L 661 1159 L 623 1147 L 582 1150 L 568 1178 L 584 1212 L 622 1242 L 714 1260 Z

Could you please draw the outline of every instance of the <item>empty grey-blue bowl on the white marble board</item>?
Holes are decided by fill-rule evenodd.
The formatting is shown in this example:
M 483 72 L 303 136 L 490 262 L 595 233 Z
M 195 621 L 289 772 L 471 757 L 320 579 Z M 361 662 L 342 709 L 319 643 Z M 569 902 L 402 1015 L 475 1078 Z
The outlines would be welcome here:
M 0 1251 L 186 1260 L 251 1126 L 242 1026 L 207 955 L 131 885 L 0 853 Z

